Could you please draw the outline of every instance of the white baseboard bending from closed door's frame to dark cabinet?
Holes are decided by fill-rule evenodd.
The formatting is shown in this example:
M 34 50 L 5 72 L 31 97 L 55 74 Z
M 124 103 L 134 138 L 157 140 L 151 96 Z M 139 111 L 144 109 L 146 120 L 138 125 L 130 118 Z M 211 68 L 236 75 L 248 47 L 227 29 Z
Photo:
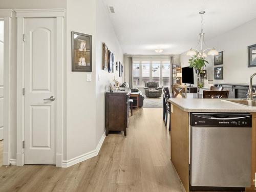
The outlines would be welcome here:
M 103 144 L 103 141 L 105 139 L 105 133 L 102 135 L 101 139 L 99 140 L 99 143 L 96 147 L 95 150 L 91 151 L 91 152 L 88 152 L 86 154 L 83 154 L 83 155 L 80 155 L 80 156 L 77 156 L 75 158 L 72 158 L 72 159 L 69 159 L 67 161 L 62 161 L 62 167 L 70 167 L 72 165 L 75 165 L 77 163 L 80 163 L 84 160 L 87 160 L 87 159 L 90 159 L 92 157 L 95 157 L 99 154 L 99 151 L 100 151 L 100 148 L 101 148 L 101 145 Z

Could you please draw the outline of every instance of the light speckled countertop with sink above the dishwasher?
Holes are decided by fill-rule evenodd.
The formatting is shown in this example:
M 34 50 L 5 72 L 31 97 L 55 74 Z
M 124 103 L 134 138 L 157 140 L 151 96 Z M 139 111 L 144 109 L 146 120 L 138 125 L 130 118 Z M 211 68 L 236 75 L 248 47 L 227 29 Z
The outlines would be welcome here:
M 171 104 L 178 106 L 185 112 L 256 113 L 256 107 L 243 106 L 227 100 L 230 99 L 168 99 Z

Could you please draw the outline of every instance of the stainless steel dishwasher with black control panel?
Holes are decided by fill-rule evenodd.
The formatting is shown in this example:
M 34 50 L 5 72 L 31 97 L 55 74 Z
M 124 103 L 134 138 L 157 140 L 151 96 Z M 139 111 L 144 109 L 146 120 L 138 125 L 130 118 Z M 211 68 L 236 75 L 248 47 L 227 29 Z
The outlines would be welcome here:
M 190 188 L 250 187 L 251 115 L 190 113 Z

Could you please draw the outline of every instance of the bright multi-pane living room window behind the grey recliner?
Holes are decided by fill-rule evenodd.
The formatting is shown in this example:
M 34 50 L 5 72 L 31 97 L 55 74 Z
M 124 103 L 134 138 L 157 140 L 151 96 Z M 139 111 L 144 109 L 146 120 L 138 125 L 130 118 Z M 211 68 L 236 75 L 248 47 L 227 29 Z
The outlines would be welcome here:
M 159 82 L 159 86 L 169 86 L 170 61 L 166 59 L 134 59 L 133 85 L 145 86 L 147 81 Z

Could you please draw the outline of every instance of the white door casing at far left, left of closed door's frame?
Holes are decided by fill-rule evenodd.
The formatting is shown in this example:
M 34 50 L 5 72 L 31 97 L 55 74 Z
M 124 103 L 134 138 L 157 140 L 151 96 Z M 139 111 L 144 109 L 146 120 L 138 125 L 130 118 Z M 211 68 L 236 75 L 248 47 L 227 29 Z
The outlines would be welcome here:
M 11 158 L 11 18 L 15 16 L 15 12 L 12 9 L 0 9 L 0 18 L 4 19 L 4 165 L 8 165 Z

